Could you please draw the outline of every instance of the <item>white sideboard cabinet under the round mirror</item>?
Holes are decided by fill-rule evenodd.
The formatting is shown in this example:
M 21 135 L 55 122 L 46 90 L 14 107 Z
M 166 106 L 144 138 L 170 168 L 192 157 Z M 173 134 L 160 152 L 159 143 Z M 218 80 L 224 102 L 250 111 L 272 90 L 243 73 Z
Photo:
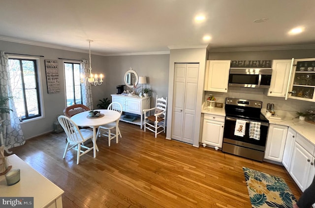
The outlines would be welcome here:
M 140 125 L 142 129 L 143 109 L 150 109 L 151 98 L 150 97 L 140 98 L 138 95 L 124 96 L 121 94 L 113 94 L 111 96 L 112 96 L 112 102 L 118 102 L 122 105 L 123 112 L 140 115 L 140 120 L 137 119 L 135 121 L 128 121 L 128 120 L 124 120 L 123 117 L 120 120 Z

